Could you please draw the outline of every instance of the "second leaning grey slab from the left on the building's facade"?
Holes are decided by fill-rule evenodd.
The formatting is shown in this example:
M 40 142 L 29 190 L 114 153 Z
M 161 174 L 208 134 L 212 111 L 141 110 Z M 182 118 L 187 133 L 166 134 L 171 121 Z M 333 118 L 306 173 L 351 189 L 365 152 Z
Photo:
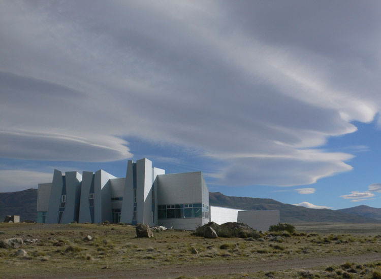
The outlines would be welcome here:
M 81 195 L 82 175 L 77 171 L 65 172 L 66 177 L 66 205 L 63 211 L 61 224 L 77 221 L 79 216 L 79 201 Z

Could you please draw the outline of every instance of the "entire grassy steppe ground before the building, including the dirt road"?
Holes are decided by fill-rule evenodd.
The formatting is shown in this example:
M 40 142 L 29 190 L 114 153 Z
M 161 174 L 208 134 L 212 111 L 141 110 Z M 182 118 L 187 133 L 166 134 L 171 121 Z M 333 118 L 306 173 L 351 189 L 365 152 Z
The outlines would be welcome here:
M 122 224 L 2 223 L 0 239 L 21 237 L 25 242 L 21 248 L 27 255 L 16 256 L 20 248 L 0 248 L 0 277 L 142 274 L 164 278 L 374 279 L 380 278 L 381 272 L 379 232 L 281 230 L 258 232 L 255 237 L 206 239 L 190 231 L 154 230 L 153 238 L 137 238 L 134 226 Z M 84 240 L 87 235 L 92 239 Z M 366 262 L 369 255 L 371 260 Z M 345 257 L 352 260 L 341 263 Z M 327 261 L 315 261 L 317 258 Z M 310 267 L 304 262 L 310 262 Z

